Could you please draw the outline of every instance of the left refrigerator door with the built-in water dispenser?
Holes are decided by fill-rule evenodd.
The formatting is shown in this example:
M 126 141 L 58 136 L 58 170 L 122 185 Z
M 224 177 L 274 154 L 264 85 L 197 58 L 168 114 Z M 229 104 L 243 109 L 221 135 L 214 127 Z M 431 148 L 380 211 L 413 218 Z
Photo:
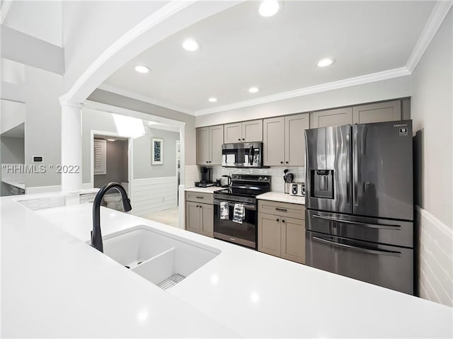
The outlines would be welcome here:
M 352 213 L 351 126 L 305 130 L 305 205 Z

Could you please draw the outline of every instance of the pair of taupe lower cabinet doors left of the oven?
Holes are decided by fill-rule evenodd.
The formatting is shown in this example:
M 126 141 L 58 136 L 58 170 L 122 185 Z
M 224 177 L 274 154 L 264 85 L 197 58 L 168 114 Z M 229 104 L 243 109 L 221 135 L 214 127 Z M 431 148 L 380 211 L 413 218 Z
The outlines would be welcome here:
M 185 203 L 185 229 L 204 236 L 214 237 L 213 205 L 200 202 Z

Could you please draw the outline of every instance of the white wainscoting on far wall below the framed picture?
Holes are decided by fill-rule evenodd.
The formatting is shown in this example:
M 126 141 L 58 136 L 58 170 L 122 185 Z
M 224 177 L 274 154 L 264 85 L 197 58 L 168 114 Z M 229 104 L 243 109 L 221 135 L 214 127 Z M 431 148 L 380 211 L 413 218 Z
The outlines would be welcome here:
M 133 215 L 142 216 L 178 206 L 178 178 L 148 178 L 132 180 L 131 205 Z

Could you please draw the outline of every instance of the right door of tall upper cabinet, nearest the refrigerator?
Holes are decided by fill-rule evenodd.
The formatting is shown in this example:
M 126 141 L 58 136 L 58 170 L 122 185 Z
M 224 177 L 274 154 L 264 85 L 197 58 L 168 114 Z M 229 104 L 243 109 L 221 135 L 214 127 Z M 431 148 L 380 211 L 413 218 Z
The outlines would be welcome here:
M 309 128 L 309 114 L 285 117 L 285 165 L 305 166 L 305 130 Z

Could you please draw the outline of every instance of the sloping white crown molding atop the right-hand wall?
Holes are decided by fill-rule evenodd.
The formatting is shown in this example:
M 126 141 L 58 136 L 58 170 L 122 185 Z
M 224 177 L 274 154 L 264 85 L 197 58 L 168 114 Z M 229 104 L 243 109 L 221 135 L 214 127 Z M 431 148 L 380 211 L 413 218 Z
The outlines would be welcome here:
M 453 1 L 451 0 L 436 2 L 434 8 L 432 9 L 430 18 L 428 18 L 425 28 L 423 28 L 420 38 L 418 38 L 411 57 L 409 57 L 408 63 L 406 64 L 406 68 L 409 72 L 411 72 L 411 74 L 425 53 L 425 50 L 428 48 L 428 45 L 430 45 L 432 38 L 434 38 L 434 35 L 442 24 L 442 21 L 444 21 L 445 16 L 447 16 L 447 13 L 452 5 Z

